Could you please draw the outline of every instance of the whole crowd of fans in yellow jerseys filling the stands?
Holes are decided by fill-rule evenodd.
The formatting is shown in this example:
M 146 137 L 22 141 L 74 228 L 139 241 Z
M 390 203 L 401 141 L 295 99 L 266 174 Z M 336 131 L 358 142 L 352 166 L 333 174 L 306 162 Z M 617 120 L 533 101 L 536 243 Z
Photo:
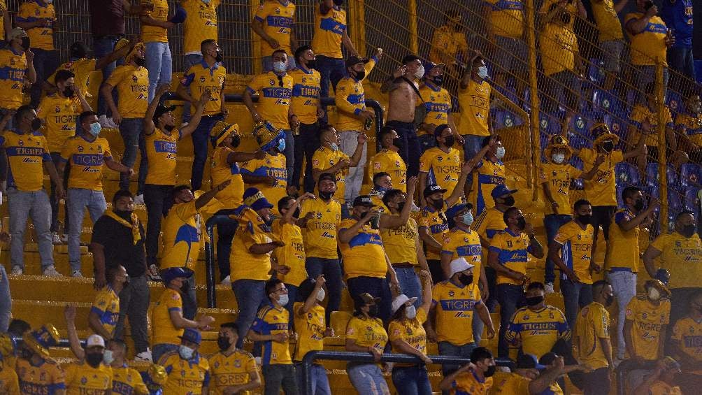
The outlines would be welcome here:
M 0 178 L 10 217 L 2 238 L 10 245 L 10 273 L 25 271 L 31 217 L 44 276 L 64 275 L 53 246 L 67 243 L 66 275 L 82 277 L 87 209 L 95 276 L 89 328 L 76 327 L 75 306 L 65 309 L 76 359 L 60 365 L 49 351 L 60 341 L 55 326 L 29 328 L 18 314 L 11 321 L 8 275 L 0 266 L 0 393 L 249 394 L 259 387 L 265 394 L 306 393 L 303 357 L 324 349 L 325 337 L 341 335 L 348 352 L 373 356 L 374 362 L 347 364 L 359 394 L 389 394 L 387 372 L 398 394 L 432 394 L 428 341 L 437 342 L 442 356 L 470 361 L 442 366 L 445 394 L 563 394 L 565 377 L 571 389 L 608 394 L 618 369 L 628 372 L 628 393 L 693 394 L 702 384 L 697 213 L 677 213 L 673 232 L 644 248 L 640 233 L 653 224 L 658 199 L 644 199 L 638 187 L 617 189 L 615 175 L 618 163 L 645 170 L 658 155 L 651 136 L 658 121 L 651 59 L 667 59 L 668 67 L 694 78 L 692 5 L 662 0 L 659 12 L 651 1 L 635 0 L 637 12 L 625 15 L 622 25 L 617 13 L 627 2 L 592 0 L 591 6 L 607 48 L 608 89 L 620 70 L 623 32 L 637 49 L 631 55 L 636 86 L 648 95 L 630 116 L 630 148 L 619 149 L 623 136 L 605 123 L 590 130 L 591 147 L 571 147 L 567 127 L 549 137 L 545 163 L 537 165 L 547 206 L 542 245 L 508 185 L 505 144 L 489 119 L 491 84 L 505 86 L 505 71 L 526 67 L 521 0 L 483 1 L 489 41 L 510 52 L 503 58 L 499 51 L 469 49 L 461 14 L 447 11 L 427 59 L 406 55 L 383 80 L 385 120 L 375 119 L 364 95 L 383 49 L 370 58 L 356 51 L 343 1 L 315 6 L 314 36 L 305 46 L 298 46 L 303 38 L 295 29 L 295 4 L 263 1 L 251 30 L 260 37 L 264 72 L 242 93 L 256 123 L 259 149 L 251 152 L 239 147 L 245 133 L 237 123 L 225 121 L 220 0 L 181 0 L 175 10 L 166 0 L 89 0 L 93 48 L 72 43 L 63 65 L 53 40 L 61 16 L 53 1 L 24 1 L 13 21 L 0 0 L 6 36 Z M 541 48 L 550 54 L 543 56 L 543 72 L 574 87 L 564 102 L 544 103 L 546 112 L 562 105 L 564 119 L 574 114 L 580 92 L 574 20 L 587 13 L 581 0 L 546 0 L 539 11 L 543 47 L 552 46 Z M 138 16 L 139 39 L 124 38 L 128 15 Z M 168 41 L 178 24 L 185 70 L 172 90 Z M 494 62 L 503 72 L 491 78 Z M 93 109 L 86 95 L 95 70 L 102 70 L 103 82 Z M 667 68 L 664 79 L 667 84 Z M 22 98 L 26 88 L 29 104 Z M 333 124 L 320 101 L 331 91 L 338 113 Z M 164 105 L 166 97 L 188 103 L 182 121 L 175 107 Z M 687 95 L 686 108 L 675 123 L 666 116 L 669 161 L 676 168 L 702 157 L 697 89 Z M 381 149 L 369 158 L 366 132 L 373 122 L 384 126 L 376 136 Z M 102 128 L 119 129 L 120 161 L 100 136 Z M 680 136 L 691 148 L 677 148 Z M 194 147 L 191 185 L 177 185 L 178 144 L 187 137 Z M 582 169 L 569 164 L 575 156 Z M 102 191 L 104 166 L 121 173 L 121 189 L 107 196 L 110 208 Z M 211 189 L 203 192 L 206 166 Z M 44 175 L 51 178 L 51 194 Z M 584 180 L 586 199 L 571 205 L 574 179 Z M 371 191 L 362 194 L 369 182 Z M 60 199 L 66 201 L 63 235 Z M 135 214 L 138 204 L 145 204 L 146 225 Z M 194 274 L 206 210 L 229 219 L 217 225 L 216 260 L 221 283 L 237 301 L 232 322 L 198 314 L 204 304 Z M 595 258 L 600 228 L 599 240 L 607 241 L 603 262 Z M 527 276 L 527 262 L 541 258 L 547 262 L 543 283 Z M 545 301 L 557 291 L 557 275 L 564 311 Z M 645 277 L 644 293 L 637 294 L 637 276 Z M 165 287 L 151 310 L 149 281 Z M 331 316 L 345 292 L 352 317 L 345 333 L 335 334 Z M 617 312 L 613 328 L 609 307 Z M 142 372 L 127 361 L 127 321 L 136 361 L 150 363 Z M 93 334 L 81 344 L 79 331 L 86 329 Z M 201 354 L 202 333 L 212 330 L 218 330 L 220 351 Z M 496 349 L 479 347 L 496 336 Z M 253 354 L 244 350 L 246 339 Z M 416 362 L 381 363 L 388 352 L 411 354 Z M 496 359 L 510 356 L 511 371 L 496 367 Z M 331 394 L 319 361 L 311 380 L 313 394 Z

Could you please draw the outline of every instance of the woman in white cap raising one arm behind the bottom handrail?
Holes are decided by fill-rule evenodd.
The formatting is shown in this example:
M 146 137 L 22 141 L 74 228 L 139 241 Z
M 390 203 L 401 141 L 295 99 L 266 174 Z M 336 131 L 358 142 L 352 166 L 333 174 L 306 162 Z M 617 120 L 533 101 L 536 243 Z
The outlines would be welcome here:
M 419 273 L 424 286 L 422 305 L 415 309 L 416 297 L 399 295 L 392 301 L 392 319 L 388 326 L 390 342 L 395 352 L 416 356 L 422 363 L 397 364 L 392 369 L 392 384 L 395 384 L 398 394 L 431 395 L 432 385 L 427 374 L 428 363 L 432 360 L 427 356 L 427 333 L 423 323 L 427 321 L 429 308 L 432 305 L 432 276 L 428 270 Z

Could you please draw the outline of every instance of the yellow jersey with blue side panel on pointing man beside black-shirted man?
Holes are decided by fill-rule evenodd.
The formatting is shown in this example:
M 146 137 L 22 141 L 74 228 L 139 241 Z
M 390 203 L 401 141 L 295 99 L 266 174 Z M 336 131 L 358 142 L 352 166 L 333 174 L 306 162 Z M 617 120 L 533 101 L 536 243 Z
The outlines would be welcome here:
M 199 210 L 195 201 L 178 203 L 168 210 L 161 223 L 164 232 L 164 251 L 161 270 L 168 267 L 187 267 L 194 270 L 202 248 L 201 227 L 197 220 Z

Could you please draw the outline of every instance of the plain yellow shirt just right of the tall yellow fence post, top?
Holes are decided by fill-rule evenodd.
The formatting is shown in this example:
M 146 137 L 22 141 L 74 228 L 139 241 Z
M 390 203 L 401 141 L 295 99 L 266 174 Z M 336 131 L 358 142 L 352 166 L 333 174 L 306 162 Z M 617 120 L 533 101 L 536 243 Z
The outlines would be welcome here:
M 573 18 L 571 18 L 573 19 Z M 575 70 L 578 39 L 572 27 L 547 23 L 541 32 L 541 64 L 547 76 Z

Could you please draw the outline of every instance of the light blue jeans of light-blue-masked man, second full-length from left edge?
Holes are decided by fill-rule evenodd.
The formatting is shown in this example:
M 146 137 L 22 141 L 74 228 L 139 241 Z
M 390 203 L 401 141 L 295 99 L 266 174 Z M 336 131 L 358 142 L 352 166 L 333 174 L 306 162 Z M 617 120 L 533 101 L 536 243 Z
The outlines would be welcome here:
M 68 217 L 71 227 L 68 228 L 68 261 L 71 270 L 81 269 L 81 230 L 83 229 L 83 216 L 86 208 L 93 221 L 105 213 L 107 202 L 102 191 L 92 189 L 69 188 L 66 199 Z

